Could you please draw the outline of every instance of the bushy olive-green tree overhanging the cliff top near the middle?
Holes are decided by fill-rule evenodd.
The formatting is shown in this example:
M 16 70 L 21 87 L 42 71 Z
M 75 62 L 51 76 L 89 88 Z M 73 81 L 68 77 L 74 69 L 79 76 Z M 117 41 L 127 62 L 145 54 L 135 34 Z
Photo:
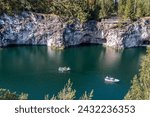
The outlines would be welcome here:
M 79 19 L 81 22 L 85 22 L 88 13 L 84 10 L 85 1 L 74 0 L 55 0 L 52 1 L 51 12 L 61 16 L 63 19 L 72 20 Z

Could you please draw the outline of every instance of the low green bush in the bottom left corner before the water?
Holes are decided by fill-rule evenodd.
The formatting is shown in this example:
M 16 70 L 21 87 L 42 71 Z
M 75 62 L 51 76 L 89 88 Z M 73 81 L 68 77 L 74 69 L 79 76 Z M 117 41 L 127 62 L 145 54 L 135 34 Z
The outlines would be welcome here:
M 26 100 L 28 99 L 28 94 L 21 93 L 16 94 L 16 92 L 10 92 L 7 89 L 0 89 L 0 100 Z

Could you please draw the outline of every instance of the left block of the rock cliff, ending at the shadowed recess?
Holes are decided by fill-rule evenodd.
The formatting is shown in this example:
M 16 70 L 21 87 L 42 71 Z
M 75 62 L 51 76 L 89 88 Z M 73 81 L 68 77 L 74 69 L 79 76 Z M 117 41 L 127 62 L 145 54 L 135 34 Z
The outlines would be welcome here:
M 0 46 L 12 44 L 62 46 L 63 23 L 55 15 L 23 12 L 0 17 Z M 58 42 L 57 42 L 58 39 Z

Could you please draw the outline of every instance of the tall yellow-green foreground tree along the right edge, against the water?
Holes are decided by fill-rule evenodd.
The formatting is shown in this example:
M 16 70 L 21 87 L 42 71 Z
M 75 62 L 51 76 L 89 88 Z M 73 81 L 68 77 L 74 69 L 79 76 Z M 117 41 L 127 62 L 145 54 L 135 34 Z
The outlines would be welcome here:
M 140 73 L 132 81 L 132 86 L 125 99 L 150 99 L 150 48 L 142 59 Z

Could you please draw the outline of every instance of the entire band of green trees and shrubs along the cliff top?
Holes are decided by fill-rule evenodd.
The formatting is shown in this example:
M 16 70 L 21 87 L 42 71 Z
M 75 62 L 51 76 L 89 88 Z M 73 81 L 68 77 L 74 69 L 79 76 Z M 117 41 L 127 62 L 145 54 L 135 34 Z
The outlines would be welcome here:
M 82 22 L 111 16 L 137 19 L 150 16 L 150 0 L 1 0 L 0 14 L 10 15 L 32 11 L 53 13 L 65 19 L 78 18 Z

